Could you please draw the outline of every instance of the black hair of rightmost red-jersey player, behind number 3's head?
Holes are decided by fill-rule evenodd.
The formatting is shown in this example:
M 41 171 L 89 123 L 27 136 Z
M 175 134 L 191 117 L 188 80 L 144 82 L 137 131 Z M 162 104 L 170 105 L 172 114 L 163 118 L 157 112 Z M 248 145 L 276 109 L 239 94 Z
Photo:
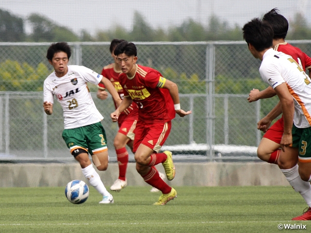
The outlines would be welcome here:
M 278 11 L 277 8 L 273 8 L 263 16 L 262 20 L 267 21 L 271 25 L 274 39 L 285 39 L 288 31 L 288 21 L 284 16 L 278 14 Z

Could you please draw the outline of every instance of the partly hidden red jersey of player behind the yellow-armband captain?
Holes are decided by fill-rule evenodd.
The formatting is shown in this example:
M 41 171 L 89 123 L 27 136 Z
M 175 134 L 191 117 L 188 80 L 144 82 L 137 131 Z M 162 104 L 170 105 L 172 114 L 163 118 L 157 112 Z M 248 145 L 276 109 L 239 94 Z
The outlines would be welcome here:
M 114 64 L 110 64 L 106 67 L 103 68 L 103 71 L 102 71 L 102 75 L 108 79 L 112 85 L 115 87 L 116 91 L 118 92 L 121 100 L 123 100 L 123 97 L 124 97 L 124 92 L 123 92 L 123 89 L 119 83 L 119 75 L 120 73 L 122 73 L 122 71 L 117 71 L 115 69 L 115 66 Z M 99 87 L 103 87 L 104 88 L 104 84 L 103 83 L 99 83 L 98 84 Z M 114 104 L 115 104 L 115 108 L 117 109 L 117 104 L 116 102 L 114 101 Z M 135 117 L 136 119 L 138 118 L 138 107 L 136 105 L 136 103 L 133 103 L 133 110 L 130 110 L 130 113 L 128 115 L 126 115 L 124 112 L 122 112 L 119 116 L 119 119 L 118 119 L 118 122 L 119 124 L 121 124 L 123 122 L 123 120 L 125 119 L 125 117 Z

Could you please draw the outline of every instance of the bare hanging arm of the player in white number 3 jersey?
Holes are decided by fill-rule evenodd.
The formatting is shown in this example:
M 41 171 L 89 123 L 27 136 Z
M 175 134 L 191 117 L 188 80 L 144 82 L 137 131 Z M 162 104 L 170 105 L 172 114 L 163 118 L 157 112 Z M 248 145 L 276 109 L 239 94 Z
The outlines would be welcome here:
M 292 128 L 294 121 L 294 100 L 286 83 L 278 85 L 275 88 L 275 91 L 280 100 L 284 118 L 284 133 L 280 145 L 282 150 L 285 151 L 285 147 L 288 147 L 293 143 Z

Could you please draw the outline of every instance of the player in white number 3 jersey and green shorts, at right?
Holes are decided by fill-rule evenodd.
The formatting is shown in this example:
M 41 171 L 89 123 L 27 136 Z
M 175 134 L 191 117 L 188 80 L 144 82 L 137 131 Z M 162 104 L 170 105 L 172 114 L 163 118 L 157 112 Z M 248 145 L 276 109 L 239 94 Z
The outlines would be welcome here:
M 262 61 L 259 68 L 262 80 L 274 88 L 280 100 L 284 118 L 281 149 L 298 158 L 299 167 L 296 164 L 281 169 L 309 205 L 302 216 L 292 220 L 311 220 L 311 79 L 290 55 L 272 49 L 274 33 L 268 22 L 254 18 L 242 30 L 248 49 Z M 284 159 L 282 154 L 279 159 Z

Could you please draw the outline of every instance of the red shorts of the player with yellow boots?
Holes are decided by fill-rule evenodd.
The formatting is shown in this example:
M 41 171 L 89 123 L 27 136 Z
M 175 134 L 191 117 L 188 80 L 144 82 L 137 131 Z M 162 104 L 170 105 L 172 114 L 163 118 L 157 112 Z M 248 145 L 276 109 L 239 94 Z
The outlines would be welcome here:
M 133 152 L 136 152 L 140 144 L 158 152 L 169 136 L 171 128 L 171 121 L 163 123 L 145 123 L 138 120 L 135 129 Z

